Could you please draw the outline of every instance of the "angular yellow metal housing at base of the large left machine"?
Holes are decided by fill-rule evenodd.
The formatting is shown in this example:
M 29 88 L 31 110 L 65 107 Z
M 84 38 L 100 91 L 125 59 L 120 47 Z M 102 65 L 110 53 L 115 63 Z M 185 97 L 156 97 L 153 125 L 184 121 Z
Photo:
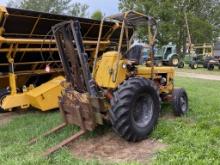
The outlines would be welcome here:
M 3 99 L 1 108 L 9 110 L 32 106 L 41 111 L 58 108 L 58 96 L 62 90 L 60 84 L 64 80 L 64 77 L 59 76 L 27 92 L 8 95 Z

